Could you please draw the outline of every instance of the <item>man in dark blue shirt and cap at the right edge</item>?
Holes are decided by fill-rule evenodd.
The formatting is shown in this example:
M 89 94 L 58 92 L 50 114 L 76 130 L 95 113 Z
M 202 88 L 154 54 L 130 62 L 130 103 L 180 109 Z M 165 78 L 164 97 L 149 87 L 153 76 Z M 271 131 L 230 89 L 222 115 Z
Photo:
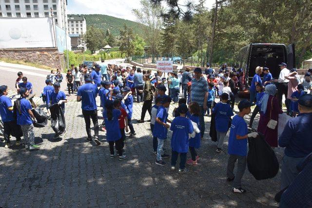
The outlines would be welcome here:
M 278 140 L 279 146 L 285 147 L 280 189 L 292 183 L 298 174 L 297 164 L 312 152 L 312 95 L 301 96 L 298 109 L 300 114 L 288 121 Z

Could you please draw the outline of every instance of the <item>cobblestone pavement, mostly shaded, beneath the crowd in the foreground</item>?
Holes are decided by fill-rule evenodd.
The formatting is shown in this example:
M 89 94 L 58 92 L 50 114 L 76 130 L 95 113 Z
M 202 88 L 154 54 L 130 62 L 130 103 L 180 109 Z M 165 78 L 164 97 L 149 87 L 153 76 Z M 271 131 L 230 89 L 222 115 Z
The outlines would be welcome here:
M 41 145 L 38 151 L 17 146 L 4 149 L 4 144 L 0 144 L 0 207 L 278 206 L 273 197 L 279 189 L 280 173 L 273 179 L 256 181 L 246 169 L 242 185 L 247 193 L 231 191 L 231 183 L 226 182 L 227 151 L 215 152 L 216 145 L 209 138 L 210 117 L 205 117 L 199 164 L 187 167 L 186 174 L 178 174 L 170 171 L 169 165 L 155 165 L 148 122 L 134 124 L 137 137 L 125 142 L 126 160 L 110 159 L 104 132 L 100 132 L 103 142 L 100 146 L 84 140 L 86 132 L 80 105 L 75 100 L 66 104 L 67 133 L 62 139 L 53 139 L 50 126 L 35 129 L 35 141 Z M 134 119 L 140 117 L 141 106 L 135 103 Z M 174 107 L 170 106 L 170 112 Z M 148 114 L 145 119 L 149 119 Z M 258 117 L 254 125 L 257 122 Z M 169 131 L 167 150 L 170 137 Z M 225 150 L 227 141 L 228 135 Z M 274 151 L 280 161 L 283 149 Z

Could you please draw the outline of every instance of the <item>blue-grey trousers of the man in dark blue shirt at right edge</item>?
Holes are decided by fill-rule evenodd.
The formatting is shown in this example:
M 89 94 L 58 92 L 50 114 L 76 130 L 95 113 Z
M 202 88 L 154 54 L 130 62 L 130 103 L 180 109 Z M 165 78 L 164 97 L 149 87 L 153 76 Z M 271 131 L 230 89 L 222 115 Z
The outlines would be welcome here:
M 282 159 L 281 190 L 291 185 L 294 178 L 299 174 L 296 166 L 302 159 L 303 157 L 295 158 L 284 155 Z

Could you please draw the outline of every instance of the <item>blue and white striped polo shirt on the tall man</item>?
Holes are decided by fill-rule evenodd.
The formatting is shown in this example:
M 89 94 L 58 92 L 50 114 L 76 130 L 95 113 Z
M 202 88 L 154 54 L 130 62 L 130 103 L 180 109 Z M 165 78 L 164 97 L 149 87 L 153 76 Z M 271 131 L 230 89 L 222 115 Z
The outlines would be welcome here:
M 203 106 L 205 95 L 207 92 L 208 92 L 208 82 L 206 78 L 200 77 L 198 81 L 195 78 L 192 79 L 192 88 L 191 88 L 192 101 L 197 102 L 199 106 Z

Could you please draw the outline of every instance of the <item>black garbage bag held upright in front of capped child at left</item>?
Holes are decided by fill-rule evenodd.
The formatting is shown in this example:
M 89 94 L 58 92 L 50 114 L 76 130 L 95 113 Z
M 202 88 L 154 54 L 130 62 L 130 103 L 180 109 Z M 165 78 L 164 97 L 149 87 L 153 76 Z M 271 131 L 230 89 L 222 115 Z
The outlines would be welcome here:
M 54 132 L 61 134 L 65 131 L 65 117 L 64 113 L 59 107 L 59 104 L 54 104 L 50 106 L 50 113 L 51 113 L 51 127 Z

